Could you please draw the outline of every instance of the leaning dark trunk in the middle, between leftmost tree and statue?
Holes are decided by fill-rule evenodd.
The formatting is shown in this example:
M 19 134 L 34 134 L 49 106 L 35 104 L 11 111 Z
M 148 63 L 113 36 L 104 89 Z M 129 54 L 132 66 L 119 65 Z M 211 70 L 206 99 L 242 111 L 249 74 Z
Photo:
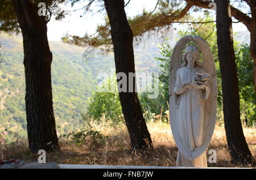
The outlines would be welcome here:
M 117 73 L 124 72 L 129 79 L 129 72 L 135 72 L 133 32 L 127 22 L 124 1 L 104 0 L 104 2 L 109 16 L 114 45 L 115 69 Z M 129 89 L 128 81 L 127 84 L 123 85 Z M 131 147 L 133 149 L 151 149 L 150 133 L 147 130 L 138 95 L 135 92 L 135 79 L 133 79 L 133 92 L 119 91 L 119 98 L 130 135 Z

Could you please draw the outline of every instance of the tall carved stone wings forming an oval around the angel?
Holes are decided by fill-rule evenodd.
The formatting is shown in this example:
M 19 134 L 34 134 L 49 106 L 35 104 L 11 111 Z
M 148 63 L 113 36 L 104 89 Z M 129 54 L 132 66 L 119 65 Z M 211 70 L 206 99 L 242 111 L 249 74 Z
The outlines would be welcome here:
M 200 66 L 203 66 L 205 70 L 210 74 L 211 78 L 208 80 L 210 86 L 210 94 L 205 103 L 205 121 L 204 121 L 204 130 L 203 130 L 203 144 L 200 147 L 196 147 L 194 151 L 189 151 L 185 148 L 185 145 L 179 138 L 179 132 L 177 132 L 177 107 L 175 104 L 174 98 L 174 87 L 176 82 L 176 71 L 181 67 L 182 64 L 182 55 L 185 45 L 189 41 L 194 41 L 199 46 L 201 54 L 203 55 L 203 62 L 200 63 Z M 170 78 L 169 78 L 169 104 L 170 104 L 170 123 L 172 135 L 174 136 L 175 143 L 179 148 L 180 152 L 188 159 L 193 160 L 199 157 L 205 149 L 207 149 L 210 139 L 214 131 L 214 126 L 216 122 L 216 113 L 217 113 L 217 73 L 215 68 L 215 63 L 213 60 L 213 55 L 210 50 L 210 47 L 207 41 L 200 36 L 184 36 L 177 41 L 174 46 L 174 51 L 172 53 L 171 62 L 170 62 Z

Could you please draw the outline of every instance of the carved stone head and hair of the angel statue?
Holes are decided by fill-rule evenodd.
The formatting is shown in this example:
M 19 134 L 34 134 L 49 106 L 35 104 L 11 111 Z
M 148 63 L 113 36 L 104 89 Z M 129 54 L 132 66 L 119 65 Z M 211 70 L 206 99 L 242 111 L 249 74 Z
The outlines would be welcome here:
M 187 66 L 188 62 L 193 62 L 197 66 L 200 59 L 199 49 L 197 46 L 187 46 L 182 58 L 184 62 L 183 66 Z

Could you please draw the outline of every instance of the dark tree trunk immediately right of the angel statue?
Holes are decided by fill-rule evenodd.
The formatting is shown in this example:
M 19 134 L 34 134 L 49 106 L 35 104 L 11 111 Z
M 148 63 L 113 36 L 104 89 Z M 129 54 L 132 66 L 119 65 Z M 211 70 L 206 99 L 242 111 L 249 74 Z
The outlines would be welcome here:
M 233 47 L 232 19 L 229 0 L 215 0 L 217 4 L 217 44 L 220 61 L 224 122 L 232 161 L 254 165 L 254 158 L 243 135 L 240 119 L 237 68 Z

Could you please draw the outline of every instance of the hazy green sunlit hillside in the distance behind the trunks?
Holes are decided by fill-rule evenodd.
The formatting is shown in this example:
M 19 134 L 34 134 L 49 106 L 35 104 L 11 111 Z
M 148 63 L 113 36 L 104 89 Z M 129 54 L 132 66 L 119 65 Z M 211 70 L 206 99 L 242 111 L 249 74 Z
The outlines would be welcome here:
M 151 40 L 152 41 L 152 40 Z M 22 37 L 0 33 L 0 131 L 26 135 L 25 79 Z M 135 64 L 138 72 L 159 72 L 155 61 L 159 50 L 156 43 L 135 47 Z M 88 60 L 83 57 L 85 49 L 49 42 L 53 54 L 52 93 L 53 109 L 59 131 L 71 131 L 80 126 L 81 113 L 86 112 L 86 102 L 94 91 L 100 72 L 110 73 L 114 68 L 114 55 L 96 50 Z

